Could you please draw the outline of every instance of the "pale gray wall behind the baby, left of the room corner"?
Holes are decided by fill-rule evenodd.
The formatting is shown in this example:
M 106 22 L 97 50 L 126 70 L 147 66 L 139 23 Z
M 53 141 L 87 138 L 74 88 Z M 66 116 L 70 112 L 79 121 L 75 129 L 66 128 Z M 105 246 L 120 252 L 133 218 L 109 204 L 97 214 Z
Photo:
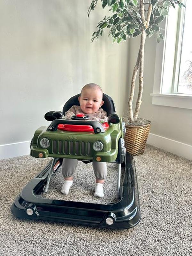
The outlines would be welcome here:
M 123 114 L 128 43 L 91 36 L 105 12 L 87 18 L 90 0 L 0 2 L 0 145 L 31 140 L 82 86 L 99 84 Z M 28 152 L 26 153 L 28 154 Z

